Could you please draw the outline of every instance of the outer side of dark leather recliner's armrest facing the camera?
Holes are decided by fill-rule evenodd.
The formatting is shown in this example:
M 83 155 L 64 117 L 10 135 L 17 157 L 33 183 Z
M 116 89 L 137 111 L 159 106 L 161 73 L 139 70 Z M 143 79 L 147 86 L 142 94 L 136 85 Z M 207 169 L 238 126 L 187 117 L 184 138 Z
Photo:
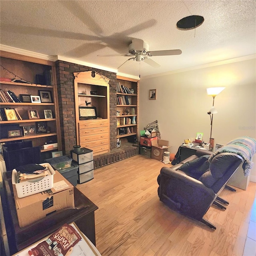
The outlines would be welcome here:
M 201 220 L 216 198 L 214 191 L 180 170 L 163 167 L 160 173 L 160 201 L 182 214 Z

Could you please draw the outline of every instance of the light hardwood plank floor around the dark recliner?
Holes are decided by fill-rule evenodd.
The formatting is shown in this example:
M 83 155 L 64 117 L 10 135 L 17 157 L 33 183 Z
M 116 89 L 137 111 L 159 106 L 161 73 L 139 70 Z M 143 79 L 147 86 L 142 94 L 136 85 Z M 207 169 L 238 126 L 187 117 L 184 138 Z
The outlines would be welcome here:
M 211 206 L 205 218 L 217 230 L 187 218 L 160 202 L 156 178 L 163 164 L 138 155 L 94 171 L 78 184 L 99 209 L 95 212 L 96 247 L 102 256 L 241 256 L 256 186 L 224 189 L 230 204 Z

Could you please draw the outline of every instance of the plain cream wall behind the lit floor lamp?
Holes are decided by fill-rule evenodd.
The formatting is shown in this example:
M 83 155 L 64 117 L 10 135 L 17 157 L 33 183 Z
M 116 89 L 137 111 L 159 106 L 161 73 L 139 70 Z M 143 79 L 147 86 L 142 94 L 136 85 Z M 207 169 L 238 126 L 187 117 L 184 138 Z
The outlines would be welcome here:
M 169 140 L 176 154 L 184 139 L 203 132 L 210 138 L 212 96 L 206 88 L 226 87 L 216 96 L 212 138 L 226 144 L 238 136 L 256 138 L 256 59 L 201 68 L 176 74 L 142 79 L 139 98 L 139 130 L 154 120 L 163 140 Z M 149 100 L 149 90 L 156 89 L 156 100 Z M 256 156 L 250 180 L 256 182 Z

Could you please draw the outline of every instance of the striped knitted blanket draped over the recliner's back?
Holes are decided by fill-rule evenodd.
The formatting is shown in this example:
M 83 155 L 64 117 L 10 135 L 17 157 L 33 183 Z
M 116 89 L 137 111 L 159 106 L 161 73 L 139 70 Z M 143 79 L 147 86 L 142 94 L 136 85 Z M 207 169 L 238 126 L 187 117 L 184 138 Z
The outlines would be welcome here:
M 253 165 L 252 157 L 256 153 L 256 140 L 248 136 L 239 137 L 231 140 L 225 146 L 215 151 L 208 159 L 208 162 L 211 162 L 214 156 L 222 152 L 235 153 L 244 158 L 244 176 L 248 176 Z

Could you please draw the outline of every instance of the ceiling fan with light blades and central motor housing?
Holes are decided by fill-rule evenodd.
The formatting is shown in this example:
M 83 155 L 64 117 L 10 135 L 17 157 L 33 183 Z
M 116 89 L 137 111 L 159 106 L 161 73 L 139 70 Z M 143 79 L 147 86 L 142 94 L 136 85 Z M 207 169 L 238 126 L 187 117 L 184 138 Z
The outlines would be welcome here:
M 152 60 L 149 57 L 152 56 L 167 56 L 167 55 L 179 55 L 182 53 L 181 50 L 161 50 L 161 51 L 149 51 L 149 46 L 146 42 L 141 39 L 132 39 L 132 43 L 129 44 L 129 53 L 127 54 L 114 54 L 114 55 L 98 55 L 102 57 L 113 57 L 113 56 L 132 56 L 128 60 L 144 61 L 154 68 L 159 68 L 161 65 Z M 126 63 L 126 60 L 124 63 Z M 122 65 L 124 65 L 124 63 Z M 122 66 L 121 65 L 121 66 Z M 120 68 L 119 66 L 118 68 Z

